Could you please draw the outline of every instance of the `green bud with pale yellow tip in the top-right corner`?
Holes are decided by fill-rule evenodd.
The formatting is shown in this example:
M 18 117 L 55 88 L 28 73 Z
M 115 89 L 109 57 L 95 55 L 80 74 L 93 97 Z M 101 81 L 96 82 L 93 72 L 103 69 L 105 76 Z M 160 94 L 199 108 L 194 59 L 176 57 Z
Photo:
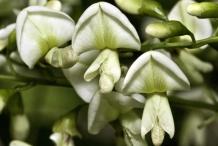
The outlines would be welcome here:
M 217 18 L 218 4 L 214 2 L 192 3 L 188 5 L 187 12 L 198 18 Z

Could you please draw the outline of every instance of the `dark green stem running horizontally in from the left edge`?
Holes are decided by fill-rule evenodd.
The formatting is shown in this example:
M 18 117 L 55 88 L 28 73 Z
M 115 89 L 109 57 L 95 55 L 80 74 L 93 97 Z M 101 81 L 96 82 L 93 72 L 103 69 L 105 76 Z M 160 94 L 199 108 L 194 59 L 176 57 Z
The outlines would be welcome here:
M 54 81 L 51 81 L 49 79 L 42 79 L 42 78 L 0 75 L 0 80 L 32 83 L 32 84 L 36 84 L 36 85 L 72 87 L 65 78 L 56 78 Z

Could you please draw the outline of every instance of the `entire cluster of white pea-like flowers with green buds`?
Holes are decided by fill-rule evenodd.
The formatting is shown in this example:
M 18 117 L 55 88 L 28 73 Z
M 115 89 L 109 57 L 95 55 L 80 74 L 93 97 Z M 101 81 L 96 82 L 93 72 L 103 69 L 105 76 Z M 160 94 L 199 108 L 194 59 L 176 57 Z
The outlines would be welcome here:
M 191 85 L 202 85 L 204 73 L 213 70 L 211 63 L 196 55 L 208 44 L 215 45 L 212 39 L 208 43 L 203 40 L 212 36 L 212 25 L 208 19 L 199 20 L 189 14 L 199 18 L 218 17 L 210 12 L 218 6 L 179 1 L 167 14 L 155 0 L 115 2 L 127 13 L 156 19 L 145 28 L 148 40 L 141 43 L 127 16 L 108 2 L 90 5 L 75 23 L 62 11 L 64 7 L 58 0 L 38 1 L 43 6 L 30 1 L 31 6 L 19 11 L 15 24 L 0 30 L 0 51 L 6 48 L 5 62 L 9 64 L 6 70 L 18 81 L 26 79 L 25 72 L 18 71 L 13 64 L 15 53 L 22 66 L 39 72 L 39 80 L 30 78 L 25 85 L 0 89 L 0 112 L 6 107 L 11 114 L 14 139 L 25 140 L 30 132 L 20 93 L 40 83 L 70 83 L 73 96 L 82 99 L 78 102 L 80 106 L 68 109 L 54 123 L 50 139 L 57 146 L 73 146 L 73 137 L 83 136 L 77 124 L 81 115 L 86 114 L 89 133 L 98 134 L 112 123 L 116 134 L 122 133 L 122 141 L 129 146 L 148 145 L 145 136 L 150 131 L 155 146 L 163 143 L 165 132 L 174 137 L 168 96 L 178 90 L 189 91 Z M 208 5 L 213 7 L 209 9 Z M 186 8 L 189 14 L 183 13 Z M 152 44 L 154 38 L 160 42 Z M 67 83 L 54 72 L 66 78 Z M 49 77 L 44 79 L 44 76 Z M 58 101 L 61 100 L 65 99 Z M 119 137 L 116 136 L 117 144 Z M 15 145 L 28 144 L 10 143 Z

